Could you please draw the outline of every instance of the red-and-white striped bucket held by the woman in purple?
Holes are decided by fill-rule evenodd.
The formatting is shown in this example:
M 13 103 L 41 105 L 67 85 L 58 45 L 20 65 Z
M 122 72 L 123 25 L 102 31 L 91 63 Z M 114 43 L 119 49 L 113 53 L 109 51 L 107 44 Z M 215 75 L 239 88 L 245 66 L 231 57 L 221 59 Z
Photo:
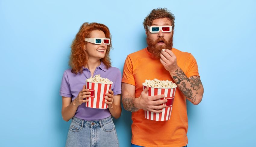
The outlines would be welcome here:
M 88 102 L 85 103 L 86 107 L 98 108 L 98 109 L 107 109 L 108 104 L 105 103 L 105 93 L 109 93 L 108 90 L 111 90 L 112 84 L 101 84 L 94 82 L 86 82 L 86 88 L 91 92 L 91 96 Z

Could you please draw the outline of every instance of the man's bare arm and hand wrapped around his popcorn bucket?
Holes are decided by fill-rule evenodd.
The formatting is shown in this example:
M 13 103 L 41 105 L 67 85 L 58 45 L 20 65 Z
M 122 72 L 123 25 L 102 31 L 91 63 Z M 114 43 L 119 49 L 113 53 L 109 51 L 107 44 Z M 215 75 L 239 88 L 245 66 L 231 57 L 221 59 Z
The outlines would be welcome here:
M 160 105 L 167 100 L 158 100 L 164 98 L 164 95 L 148 96 L 149 87 L 147 86 L 138 98 L 135 98 L 135 86 L 122 83 L 122 103 L 125 110 L 136 112 L 139 109 L 148 110 L 154 113 L 161 113 L 166 105 Z M 155 101 L 158 100 L 158 101 Z

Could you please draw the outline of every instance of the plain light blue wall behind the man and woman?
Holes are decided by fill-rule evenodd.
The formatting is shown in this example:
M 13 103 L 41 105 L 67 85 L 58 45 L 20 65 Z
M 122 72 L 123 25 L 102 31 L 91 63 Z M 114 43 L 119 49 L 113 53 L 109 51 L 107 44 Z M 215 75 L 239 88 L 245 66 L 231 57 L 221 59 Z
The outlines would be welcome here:
M 112 34 L 112 64 L 146 47 L 142 22 L 153 8 L 174 13 L 174 47 L 194 55 L 204 85 L 188 102 L 189 146 L 255 146 L 255 1 L 0 1 L 0 146 L 64 146 L 61 77 L 83 22 Z M 130 146 L 131 113 L 115 120 Z

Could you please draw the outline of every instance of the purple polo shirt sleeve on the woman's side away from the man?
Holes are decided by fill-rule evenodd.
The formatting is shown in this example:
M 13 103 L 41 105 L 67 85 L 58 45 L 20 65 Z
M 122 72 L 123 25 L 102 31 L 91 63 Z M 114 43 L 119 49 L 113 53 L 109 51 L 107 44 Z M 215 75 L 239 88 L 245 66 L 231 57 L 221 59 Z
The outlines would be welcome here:
M 65 97 L 72 97 L 71 91 L 70 91 L 70 84 L 67 77 L 67 72 L 65 71 L 62 76 L 61 81 L 61 90 L 60 95 Z

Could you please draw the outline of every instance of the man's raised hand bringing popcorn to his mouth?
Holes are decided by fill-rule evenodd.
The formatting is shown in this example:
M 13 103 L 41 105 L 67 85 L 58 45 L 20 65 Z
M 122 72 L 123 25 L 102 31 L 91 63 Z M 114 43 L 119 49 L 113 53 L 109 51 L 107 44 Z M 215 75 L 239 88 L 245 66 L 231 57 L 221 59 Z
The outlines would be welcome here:
M 165 51 L 162 51 L 160 54 L 160 62 L 163 64 L 164 68 L 168 72 L 173 72 L 177 70 L 177 60 L 175 54 L 169 49 L 166 49 Z

